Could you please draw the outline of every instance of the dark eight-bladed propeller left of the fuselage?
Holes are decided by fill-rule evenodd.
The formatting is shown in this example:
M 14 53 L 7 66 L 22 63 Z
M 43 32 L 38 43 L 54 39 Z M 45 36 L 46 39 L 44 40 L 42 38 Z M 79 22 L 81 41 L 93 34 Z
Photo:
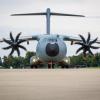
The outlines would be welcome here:
M 20 35 L 21 35 L 21 32 L 18 33 L 18 35 L 14 39 L 12 32 L 10 32 L 10 40 L 3 39 L 3 41 L 9 45 L 7 47 L 4 47 L 3 49 L 4 50 L 12 49 L 9 55 L 12 55 L 14 53 L 14 51 L 16 51 L 18 56 L 20 56 L 19 48 L 21 48 L 25 51 L 27 50 L 24 46 L 21 45 L 21 43 L 25 42 L 26 40 L 19 39 Z

